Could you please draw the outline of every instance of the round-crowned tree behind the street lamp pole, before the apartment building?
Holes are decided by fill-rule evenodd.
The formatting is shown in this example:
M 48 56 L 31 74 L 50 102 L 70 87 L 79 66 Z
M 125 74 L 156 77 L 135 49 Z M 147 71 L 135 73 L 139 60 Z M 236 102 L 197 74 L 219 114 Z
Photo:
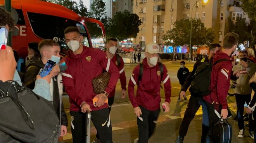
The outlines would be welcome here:
M 175 45 L 190 44 L 190 22 L 191 19 L 181 19 L 174 23 L 174 28 L 164 34 L 163 40 L 173 40 Z M 215 34 L 213 29 L 206 28 L 204 23 L 198 19 L 192 19 L 192 41 L 193 45 L 209 45 L 213 42 Z

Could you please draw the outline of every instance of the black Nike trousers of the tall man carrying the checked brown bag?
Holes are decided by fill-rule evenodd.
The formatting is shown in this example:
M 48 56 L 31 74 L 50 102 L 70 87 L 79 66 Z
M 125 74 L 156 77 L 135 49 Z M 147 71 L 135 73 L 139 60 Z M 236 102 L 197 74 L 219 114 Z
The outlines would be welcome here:
M 92 111 L 92 123 L 99 133 L 101 143 L 112 143 L 112 126 L 107 108 Z M 73 143 L 86 143 L 86 113 L 70 111 Z

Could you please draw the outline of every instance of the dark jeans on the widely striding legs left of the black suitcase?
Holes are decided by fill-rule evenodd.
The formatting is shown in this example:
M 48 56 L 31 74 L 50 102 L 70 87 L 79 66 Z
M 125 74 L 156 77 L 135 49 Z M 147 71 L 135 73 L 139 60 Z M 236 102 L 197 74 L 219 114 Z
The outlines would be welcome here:
M 203 121 L 202 121 L 202 138 L 201 138 L 201 143 L 204 143 L 204 140 L 206 138 L 206 135 L 209 130 L 209 119 L 208 119 L 208 111 L 206 108 L 206 105 L 204 104 L 202 97 L 196 97 L 191 93 L 190 99 L 189 99 L 189 104 L 188 107 L 185 111 L 184 118 L 182 120 L 182 123 L 180 125 L 180 130 L 179 130 L 179 135 L 181 137 L 185 137 L 187 135 L 187 131 L 189 129 L 189 124 L 190 122 L 194 119 L 195 114 L 197 113 L 199 107 L 202 104 L 203 108 Z

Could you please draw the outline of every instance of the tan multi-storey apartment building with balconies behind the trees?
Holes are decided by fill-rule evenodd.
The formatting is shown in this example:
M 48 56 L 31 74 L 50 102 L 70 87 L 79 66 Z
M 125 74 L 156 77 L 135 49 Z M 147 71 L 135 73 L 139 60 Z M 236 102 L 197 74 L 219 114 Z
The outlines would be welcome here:
M 208 3 L 203 3 L 203 0 L 133 0 L 133 3 L 133 13 L 137 13 L 142 20 L 134 41 L 137 44 L 140 41 L 164 44 L 163 35 L 173 29 L 174 22 L 180 19 L 201 19 L 207 28 L 214 30 L 214 42 L 220 44 L 229 17 L 234 22 L 236 17 L 246 18 L 249 22 L 239 0 L 208 0 Z

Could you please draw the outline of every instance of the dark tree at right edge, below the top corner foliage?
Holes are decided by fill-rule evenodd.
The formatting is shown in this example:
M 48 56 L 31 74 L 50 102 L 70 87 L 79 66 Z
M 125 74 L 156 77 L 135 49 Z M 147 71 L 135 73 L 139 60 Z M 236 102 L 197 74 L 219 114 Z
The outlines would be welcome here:
M 228 32 L 235 32 L 239 35 L 239 43 L 244 43 L 244 41 L 254 41 L 256 34 L 255 21 L 252 20 L 250 24 L 246 23 L 246 19 L 237 17 L 235 24 L 231 19 L 228 19 Z M 251 42 L 252 44 L 252 42 Z

